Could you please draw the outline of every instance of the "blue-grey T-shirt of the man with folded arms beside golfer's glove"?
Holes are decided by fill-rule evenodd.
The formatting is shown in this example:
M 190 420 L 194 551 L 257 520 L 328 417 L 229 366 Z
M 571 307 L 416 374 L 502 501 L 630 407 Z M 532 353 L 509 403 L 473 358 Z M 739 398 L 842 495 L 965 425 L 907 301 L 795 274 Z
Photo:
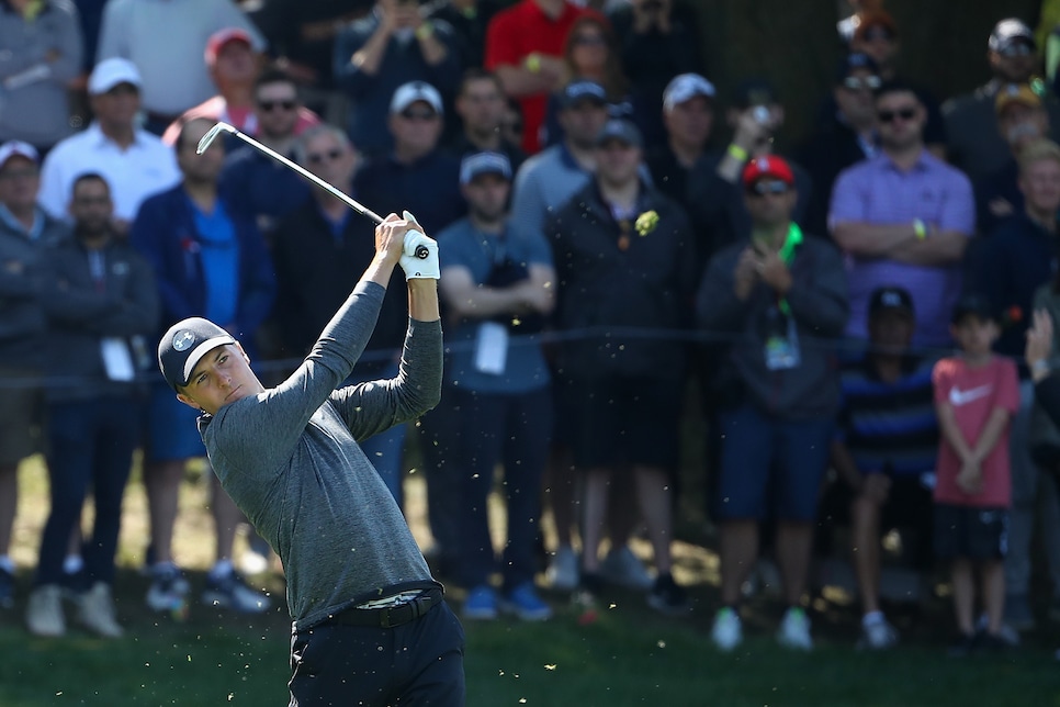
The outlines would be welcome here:
M 484 234 L 470 218 L 461 218 L 438 234 L 438 254 L 444 278 L 446 268 L 463 267 L 471 271 L 476 284 L 489 279 L 495 259 L 504 259 L 504 249 L 514 262 L 552 267 L 552 251 L 540 233 L 506 228 L 504 235 Z M 475 340 L 480 319 L 462 319 L 446 335 L 446 383 L 481 393 L 525 393 L 549 384 L 549 368 L 541 352 L 541 336 L 508 336 L 505 371 L 484 373 L 475 368 Z

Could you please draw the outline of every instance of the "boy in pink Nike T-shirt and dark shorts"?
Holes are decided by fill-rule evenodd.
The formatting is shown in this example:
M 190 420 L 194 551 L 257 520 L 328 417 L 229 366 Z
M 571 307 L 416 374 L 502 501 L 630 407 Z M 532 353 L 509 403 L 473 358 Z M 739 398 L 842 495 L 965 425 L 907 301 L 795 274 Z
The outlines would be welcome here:
M 950 325 L 960 347 L 956 357 L 935 364 L 935 411 L 941 439 L 935 485 L 935 554 L 951 563 L 954 609 L 960 639 L 954 653 L 996 649 L 1005 580 L 1012 483 L 1008 468 L 1010 422 L 1019 407 L 1016 364 L 994 356 L 1001 333 L 997 314 L 985 299 L 967 295 L 954 307 Z M 974 630 L 976 571 L 989 622 Z

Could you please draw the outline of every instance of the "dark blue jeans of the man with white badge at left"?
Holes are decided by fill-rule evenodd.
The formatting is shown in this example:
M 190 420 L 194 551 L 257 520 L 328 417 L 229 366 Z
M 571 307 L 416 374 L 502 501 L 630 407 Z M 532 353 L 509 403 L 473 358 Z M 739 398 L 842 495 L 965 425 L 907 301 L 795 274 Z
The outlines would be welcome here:
M 52 512 L 41 539 L 35 586 L 57 584 L 71 530 L 80 523 L 89 484 L 95 501 L 92 534 L 81 553 L 90 583 L 114 582 L 122 496 L 140 440 L 144 407 L 131 397 L 52 403 L 48 406 Z

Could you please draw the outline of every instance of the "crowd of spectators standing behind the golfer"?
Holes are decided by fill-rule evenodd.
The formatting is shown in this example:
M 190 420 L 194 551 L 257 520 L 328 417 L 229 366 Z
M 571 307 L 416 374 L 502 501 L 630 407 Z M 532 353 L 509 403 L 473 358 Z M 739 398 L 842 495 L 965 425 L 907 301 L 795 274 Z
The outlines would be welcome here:
M 1020 20 L 985 37 L 989 80 L 939 101 L 899 74 L 893 18 L 845 19 L 814 127 L 781 155 L 783 87 L 730 77 L 723 100 L 681 0 L 252 5 L 0 10 L 0 604 L 19 590 L 18 468 L 43 452 L 31 632 L 63 635 L 74 597 L 89 629 L 122 635 L 114 558 L 136 448 L 146 601 L 187 605 L 172 534 L 204 449 L 155 370 L 159 333 L 208 317 L 280 380 L 370 261 L 372 225 L 332 194 L 235 137 L 198 154 L 216 121 L 438 239 L 441 403 L 361 441 L 398 505 L 419 445 L 429 554 L 466 590 L 465 618 L 546 619 L 543 586 L 594 602 L 623 585 L 691 610 L 670 548 L 688 442 L 706 442 L 721 602 L 698 608 L 717 611 L 722 650 L 743 640 L 762 559 L 780 571 L 778 641 L 812 648 L 814 535 L 836 518 L 862 647 L 899 641 L 880 602 L 895 528 L 916 571 L 951 570 L 955 652 L 1035 626 L 1039 514 L 1060 616 L 1060 431 L 1033 379 L 1056 361 L 1023 362 L 1031 313 L 1060 316 L 1060 100 Z M 396 374 L 401 296 L 388 290 L 351 382 Z M 707 440 L 681 438 L 686 414 Z M 239 510 L 217 484 L 210 503 L 201 598 L 262 611 L 233 557 Z

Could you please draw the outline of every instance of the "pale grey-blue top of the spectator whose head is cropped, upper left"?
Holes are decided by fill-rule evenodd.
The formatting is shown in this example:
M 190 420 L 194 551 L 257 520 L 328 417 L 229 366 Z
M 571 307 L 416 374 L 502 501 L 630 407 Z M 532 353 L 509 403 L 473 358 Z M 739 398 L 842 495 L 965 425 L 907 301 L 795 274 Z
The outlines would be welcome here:
M 139 69 L 144 110 L 179 115 L 217 92 L 203 52 L 218 30 L 240 27 L 263 50 L 266 41 L 232 0 L 110 0 L 103 8 L 95 60 L 113 56 Z

